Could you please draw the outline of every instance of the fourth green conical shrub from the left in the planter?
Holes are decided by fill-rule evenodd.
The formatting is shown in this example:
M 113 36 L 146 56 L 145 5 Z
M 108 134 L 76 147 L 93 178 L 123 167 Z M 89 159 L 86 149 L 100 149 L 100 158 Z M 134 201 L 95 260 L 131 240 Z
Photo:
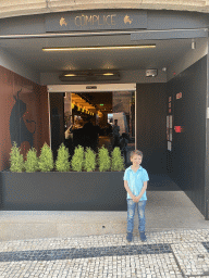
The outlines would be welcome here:
M 58 157 L 56 161 L 56 169 L 59 172 L 69 172 L 70 170 L 70 154 L 66 147 L 61 143 L 58 150 Z

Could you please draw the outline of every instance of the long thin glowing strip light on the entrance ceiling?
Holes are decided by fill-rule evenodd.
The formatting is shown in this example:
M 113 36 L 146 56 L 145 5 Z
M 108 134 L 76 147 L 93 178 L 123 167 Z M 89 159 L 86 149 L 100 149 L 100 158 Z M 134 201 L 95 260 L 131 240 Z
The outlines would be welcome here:
M 140 46 L 104 46 L 104 47 L 76 47 L 76 48 L 42 48 L 42 51 L 77 51 L 77 50 L 103 50 L 103 49 L 144 49 L 156 48 L 156 45 L 140 45 Z

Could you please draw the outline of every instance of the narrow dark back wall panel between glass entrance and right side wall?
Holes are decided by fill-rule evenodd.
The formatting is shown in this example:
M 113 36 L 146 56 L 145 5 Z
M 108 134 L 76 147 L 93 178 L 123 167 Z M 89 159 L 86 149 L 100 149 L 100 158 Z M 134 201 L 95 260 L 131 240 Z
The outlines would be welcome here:
M 167 84 L 137 84 L 136 140 L 149 174 L 165 172 Z

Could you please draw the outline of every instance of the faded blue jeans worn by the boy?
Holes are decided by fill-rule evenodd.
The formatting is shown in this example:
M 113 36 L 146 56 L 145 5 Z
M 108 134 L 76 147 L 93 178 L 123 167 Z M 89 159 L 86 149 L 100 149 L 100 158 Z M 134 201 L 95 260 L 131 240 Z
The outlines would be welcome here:
M 147 200 L 135 203 L 132 199 L 127 199 L 127 232 L 133 233 L 134 230 L 134 215 L 137 206 L 138 212 L 138 231 L 145 231 L 145 206 Z

